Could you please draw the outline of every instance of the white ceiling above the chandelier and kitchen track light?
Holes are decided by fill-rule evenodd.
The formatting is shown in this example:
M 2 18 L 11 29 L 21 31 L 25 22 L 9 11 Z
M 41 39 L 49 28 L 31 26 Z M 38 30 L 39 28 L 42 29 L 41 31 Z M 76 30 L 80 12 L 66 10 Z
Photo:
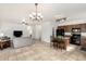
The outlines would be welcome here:
M 0 20 L 22 20 L 35 11 L 34 3 L 0 3 Z M 69 18 L 85 17 L 85 3 L 39 3 L 38 11 L 44 21 L 53 21 L 54 15 L 64 15 Z

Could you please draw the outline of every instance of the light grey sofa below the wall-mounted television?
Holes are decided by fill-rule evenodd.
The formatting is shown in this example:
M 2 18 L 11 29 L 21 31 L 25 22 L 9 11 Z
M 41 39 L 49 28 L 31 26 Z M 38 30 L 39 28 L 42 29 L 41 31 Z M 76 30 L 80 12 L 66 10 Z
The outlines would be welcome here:
M 21 48 L 33 43 L 34 42 L 30 37 L 13 38 L 13 48 Z

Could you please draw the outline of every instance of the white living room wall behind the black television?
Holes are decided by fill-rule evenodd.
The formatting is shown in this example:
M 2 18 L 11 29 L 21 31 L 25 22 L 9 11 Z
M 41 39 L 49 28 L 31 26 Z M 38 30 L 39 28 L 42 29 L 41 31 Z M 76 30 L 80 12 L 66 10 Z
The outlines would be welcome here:
M 13 38 L 13 30 L 23 30 L 23 36 L 22 37 L 28 37 L 28 30 L 27 26 L 24 26 L 22 24 L 17 23 L 12 23 L 12 22 L 3 22 L 1 24 L 0 33 L 3 33 L 5 36 L 9 36 Z

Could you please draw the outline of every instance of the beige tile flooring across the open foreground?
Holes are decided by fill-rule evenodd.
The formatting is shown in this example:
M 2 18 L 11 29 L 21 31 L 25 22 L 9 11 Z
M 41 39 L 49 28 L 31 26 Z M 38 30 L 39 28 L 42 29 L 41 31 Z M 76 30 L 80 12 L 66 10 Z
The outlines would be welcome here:
M 61 51 L 48 43 L 36 41 L 20 49 L 0 50 L 0 61 L 86 61 L 86 51 L 81 51 L 78 47 L 72 51 Z

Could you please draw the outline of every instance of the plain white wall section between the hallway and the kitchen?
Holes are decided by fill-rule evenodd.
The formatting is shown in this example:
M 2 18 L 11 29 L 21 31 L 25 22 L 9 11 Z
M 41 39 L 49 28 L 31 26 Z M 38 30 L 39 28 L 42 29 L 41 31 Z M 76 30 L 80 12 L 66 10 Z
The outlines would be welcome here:
M 50 36 L 52 35 L 51 22 L 45 22 L 41 26 L 41 40 L 50 42 Z

